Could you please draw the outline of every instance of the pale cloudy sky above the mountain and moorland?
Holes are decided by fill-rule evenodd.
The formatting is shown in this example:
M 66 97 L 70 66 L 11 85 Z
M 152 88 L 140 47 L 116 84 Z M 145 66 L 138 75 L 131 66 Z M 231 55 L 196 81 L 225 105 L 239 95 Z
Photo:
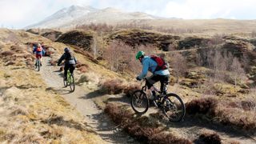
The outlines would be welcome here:
M 72 5 L 114 7 L 166 18 L 256 19 L 256 0 L 0 0 L 0 27 L 23 28 Z

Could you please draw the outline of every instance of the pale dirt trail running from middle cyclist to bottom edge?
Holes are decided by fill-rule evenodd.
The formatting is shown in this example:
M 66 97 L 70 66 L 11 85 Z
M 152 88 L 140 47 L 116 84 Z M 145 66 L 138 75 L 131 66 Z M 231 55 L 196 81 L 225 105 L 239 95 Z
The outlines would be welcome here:
M 106 114 L 98 109 L 92 99 L 87 98 L 90 90 L 76 86 L 74 92 L 70 93 L 69 87 L 64 88 L 62 73 L 58 71 L 57 66 L 50 66 L 49 60 L 50 58 L 43 58 L 43 66 L 39 72 L 46 84 L 57 90 L 58 94 L 61 94 L 67 102 L 75 106 L 84 115 L 86 122 L 106 143 L 136 143 L 133 138 L 118 131 L 117 126 L 111 122 L 110 118 L 107 118 Z

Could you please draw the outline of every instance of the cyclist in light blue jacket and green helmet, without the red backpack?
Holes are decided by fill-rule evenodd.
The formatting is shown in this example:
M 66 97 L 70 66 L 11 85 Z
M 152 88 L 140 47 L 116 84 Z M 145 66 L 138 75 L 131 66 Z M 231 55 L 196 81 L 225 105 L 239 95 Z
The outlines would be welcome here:
M 138 81 L 141 81 L 143 78 L 146 78 L 147 71 L 150 71 L 152 75 L 148 78 L 146 78 L 146 86 L 151 91 L 152 95 L 150 97 L 151 100 L 154 99 L 154 96 L 156 95 L 154 91 L 153 84 L 155 82 L 160 81 L 161 82 L 161 91 L 164 91 L 164 83 L 169 82 L 170 78 L 170 72 L 168 68 L 166 69 L 160 69 L 158 68 L 158 63 L 154 61 L 153 58 L 150 56 L 146 56 L 146 54 L 143 51 L 138 51 L 136 54 L 136 59 L 139 60 L 142 63 L 142 73 L 138 75 L 136 78 Z M 156 70 L 158 69 L 158 70 Z

